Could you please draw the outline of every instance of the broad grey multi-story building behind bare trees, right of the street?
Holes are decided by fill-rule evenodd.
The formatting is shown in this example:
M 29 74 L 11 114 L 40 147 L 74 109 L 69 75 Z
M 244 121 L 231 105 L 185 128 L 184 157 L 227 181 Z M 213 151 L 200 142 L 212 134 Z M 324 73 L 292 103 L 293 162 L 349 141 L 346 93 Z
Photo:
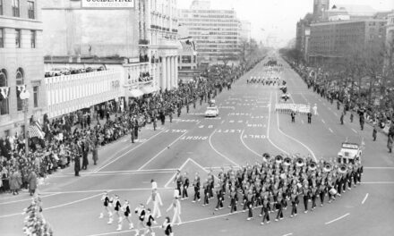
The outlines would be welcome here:
M 339 61 L 353 48 L 375 50 L 384 44 L 386 20 L 329 21 L 311 24 L 309 60 Z

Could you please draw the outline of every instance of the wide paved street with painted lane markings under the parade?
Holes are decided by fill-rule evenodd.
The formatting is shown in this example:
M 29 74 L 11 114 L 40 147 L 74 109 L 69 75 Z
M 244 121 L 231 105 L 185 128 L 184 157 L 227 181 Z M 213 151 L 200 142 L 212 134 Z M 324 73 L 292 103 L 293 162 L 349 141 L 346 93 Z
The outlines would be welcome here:
M 153 131 L 151 125 L 141 131 L 140 142 L 132 144 L 124 138 L 99 151 L 99 165 L 90 162 L 89 170 L 81 177 L 73 176 L 73 168 L 56 173 L 39 187 L 43 202 L 43 214 L 53 226 L 55 235 L 133 235 L 133 230 L 116 232 L 116 223 L 107 224 L 107 218 L 99 219 L 102 211 L 102 192 L 109 190 L 128 199 L 132 209 L 146 203 L 150 196 L 150 180 L 158 182 L 164 206 L 163 215 L 172 217 L 172 211 L 164 213 L 171 203 L 177 169 L 187 172 L 193 180 L 195 172 L 205 179 L 210 168 L 218 173 L 221 166 L 243 166 L 261 162 L 261 154 L 272 155 L 300 153 L 320 160 L 336 157 L 341 142 L 361 143 L 365 148 L 363 183 L 342 194 L 331 204 L 318 207 L 308 214 L 300 213 L 289 218 L 261 226 L 261 218 L 246 221 L 247 213 L 228 215 L 229 208 L 214 211 L 216 198 L 210 206 L 192 203 L 189 198 L 181 202 L 184 223 L 174 227 L 175 235 L 392 235 L 394 232 L 394 156 L 386 147 L 387 137 L 379 133 L 373 142 L 372 128 L 364 131 L 355 122 L 345 118 L 339 122 L 336 105 L 308 90 L 304 81 L 293 72 L 284 60 L 282 78 L 287 80 L 290 103 L 316 104 L 318 115 L 312 124 L 306 115 L 297 115 L 295 123 L 289 114 L 278 114 L 275 105 L 281 91 L 278 87 L 247 84 L 251 76 L 262 76 L 263 64 L 236 81 L 231 90 L 224 90 L 216 103 L 217 118 L 205 118 L 206 105 L 193 107 L 189 114 L 183 110 L 181 117 Z M 193 196 L 193 188 L 189 189 Z M 1 196 L 0 228 L 2 235 L 22 235 L 22 209 L 29 206 L 26 192 L 17 197 Z M 225 205 L 228 205 L 226 200 Z M 258 210 L 255 210 L 255 214 Z M 133 214 L 134 225 L 137 217 Z M 158 225 L 163 217 L 158 219 Z M 156 235 L 164 235 L 155 229 Z

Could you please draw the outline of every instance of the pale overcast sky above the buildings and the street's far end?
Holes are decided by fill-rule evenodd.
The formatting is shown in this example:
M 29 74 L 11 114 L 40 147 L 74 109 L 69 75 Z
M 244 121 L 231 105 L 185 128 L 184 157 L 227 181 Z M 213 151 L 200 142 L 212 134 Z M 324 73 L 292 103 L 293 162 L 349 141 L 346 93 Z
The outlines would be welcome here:
M 178 0 L 179 8 L 189 8 L 193 0 Z M 313 12 L 313 0 L 210 0 L 211 9 L 236 10 L 238 18 L 252 22 L 252 37 L 278 38 L 283 46 L 295 38 L 295 24 Z M 367 4 L 378 11 L 393 9 L 394 0 L 330 0 L 333 4 Z M 261 29 L 264 29 L 262 31 Z

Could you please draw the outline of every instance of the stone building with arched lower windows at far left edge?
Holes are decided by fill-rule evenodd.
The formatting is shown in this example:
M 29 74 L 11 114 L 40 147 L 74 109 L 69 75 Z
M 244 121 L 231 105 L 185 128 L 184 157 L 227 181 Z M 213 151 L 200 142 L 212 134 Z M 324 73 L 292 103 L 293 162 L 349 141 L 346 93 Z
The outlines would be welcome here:
M 0 1 L 0 137 L 22 133 L 24 112 L 42 119 L 46 110 L 42 0 Z M 24 104 L 21 92 L 30 98 Z M 27 109 L 26 109 L 27 108 Z

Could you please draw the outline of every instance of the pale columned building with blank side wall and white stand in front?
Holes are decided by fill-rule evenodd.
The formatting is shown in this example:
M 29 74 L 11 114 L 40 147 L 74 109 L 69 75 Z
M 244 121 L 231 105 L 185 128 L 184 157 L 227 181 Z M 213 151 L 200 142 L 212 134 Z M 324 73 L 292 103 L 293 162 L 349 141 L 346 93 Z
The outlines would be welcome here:
M 47 0 L 42 11 L 47 71 L 106 69 L 47 78 L 47 89 L 71 88 L 59 97 L 48 91 L 49 117 L 111 100 L 127 105 L 133 97 L 176 88 L 176 0 L 135 0 L 122 8 Z M 78 90 L 77 80 L 96 89 Z

